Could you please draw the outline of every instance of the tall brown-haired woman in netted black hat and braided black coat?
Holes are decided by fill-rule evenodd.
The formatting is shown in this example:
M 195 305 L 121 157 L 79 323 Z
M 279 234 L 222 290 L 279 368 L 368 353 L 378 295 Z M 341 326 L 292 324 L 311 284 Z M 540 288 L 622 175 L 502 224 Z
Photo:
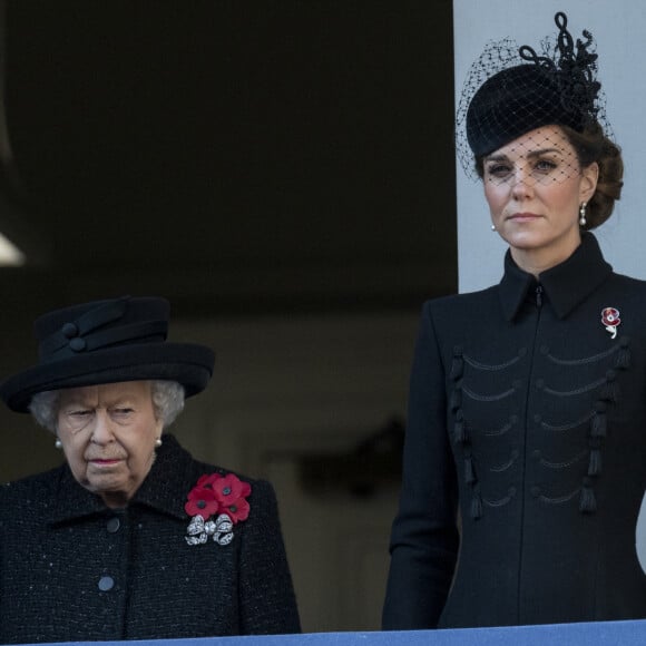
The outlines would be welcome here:
M 619 198 L 591 36 L 492 43 L 458 151 L 509 245 L 487 290 L 424 305 L 388 629 L 646 617 L 646 283 L 590 229 Z

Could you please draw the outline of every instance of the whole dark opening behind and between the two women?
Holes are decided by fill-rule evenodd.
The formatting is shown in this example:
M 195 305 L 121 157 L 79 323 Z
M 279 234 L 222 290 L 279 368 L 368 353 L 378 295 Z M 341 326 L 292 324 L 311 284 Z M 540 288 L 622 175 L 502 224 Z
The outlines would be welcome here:
M 451 6 L 0 0 L 0 379 L 43 312 L 168 297 L 217 352 L 178 437 L 275 483 L 311 632 L 379 627 L 419 311 L 457 290 Z M 62 459 L 0 430 L 0 480 Z M 366 446 L 386 481 L 340 493 Z

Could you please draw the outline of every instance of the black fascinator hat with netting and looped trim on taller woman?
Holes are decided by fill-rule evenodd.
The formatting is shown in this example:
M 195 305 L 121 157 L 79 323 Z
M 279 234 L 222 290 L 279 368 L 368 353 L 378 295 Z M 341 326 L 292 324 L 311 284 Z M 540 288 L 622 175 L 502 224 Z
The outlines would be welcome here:
M 576 42 L 567 16 L 555 16 L 556 43 L 542 43 L 542 55 L 505 39 L 491 42 L 472 65 L 457 116 L 458 156 L 467 174 L 473 157 L 497 150 L 536 128 L 568 126 L 583 131 L 600 123 L 608 134 L 593 36 L 584 30 Z

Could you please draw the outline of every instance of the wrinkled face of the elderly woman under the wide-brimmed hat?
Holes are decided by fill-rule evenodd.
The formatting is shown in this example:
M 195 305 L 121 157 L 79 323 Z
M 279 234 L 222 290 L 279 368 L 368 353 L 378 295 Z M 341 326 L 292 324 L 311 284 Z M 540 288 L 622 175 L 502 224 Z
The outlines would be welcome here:
M 147 381 L 61 390 L 62 450 L 78 482 L 108 507 L 124 507 L 135 495 L 150 471 L 161 430 Z

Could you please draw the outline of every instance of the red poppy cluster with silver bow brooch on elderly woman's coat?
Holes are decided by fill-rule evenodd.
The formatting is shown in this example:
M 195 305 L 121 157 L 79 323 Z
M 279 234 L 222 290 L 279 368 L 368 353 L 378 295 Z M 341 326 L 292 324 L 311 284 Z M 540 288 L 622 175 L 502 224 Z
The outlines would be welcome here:
M 212 537 L 218 545 L 228 545 L 233 540 L 233 526 L 249 515 L 246 498 L 251 492 L 251 484 L 233 473 L 202 476 L 184 506 L 192 517 L 186 542 L 203 545 Z

